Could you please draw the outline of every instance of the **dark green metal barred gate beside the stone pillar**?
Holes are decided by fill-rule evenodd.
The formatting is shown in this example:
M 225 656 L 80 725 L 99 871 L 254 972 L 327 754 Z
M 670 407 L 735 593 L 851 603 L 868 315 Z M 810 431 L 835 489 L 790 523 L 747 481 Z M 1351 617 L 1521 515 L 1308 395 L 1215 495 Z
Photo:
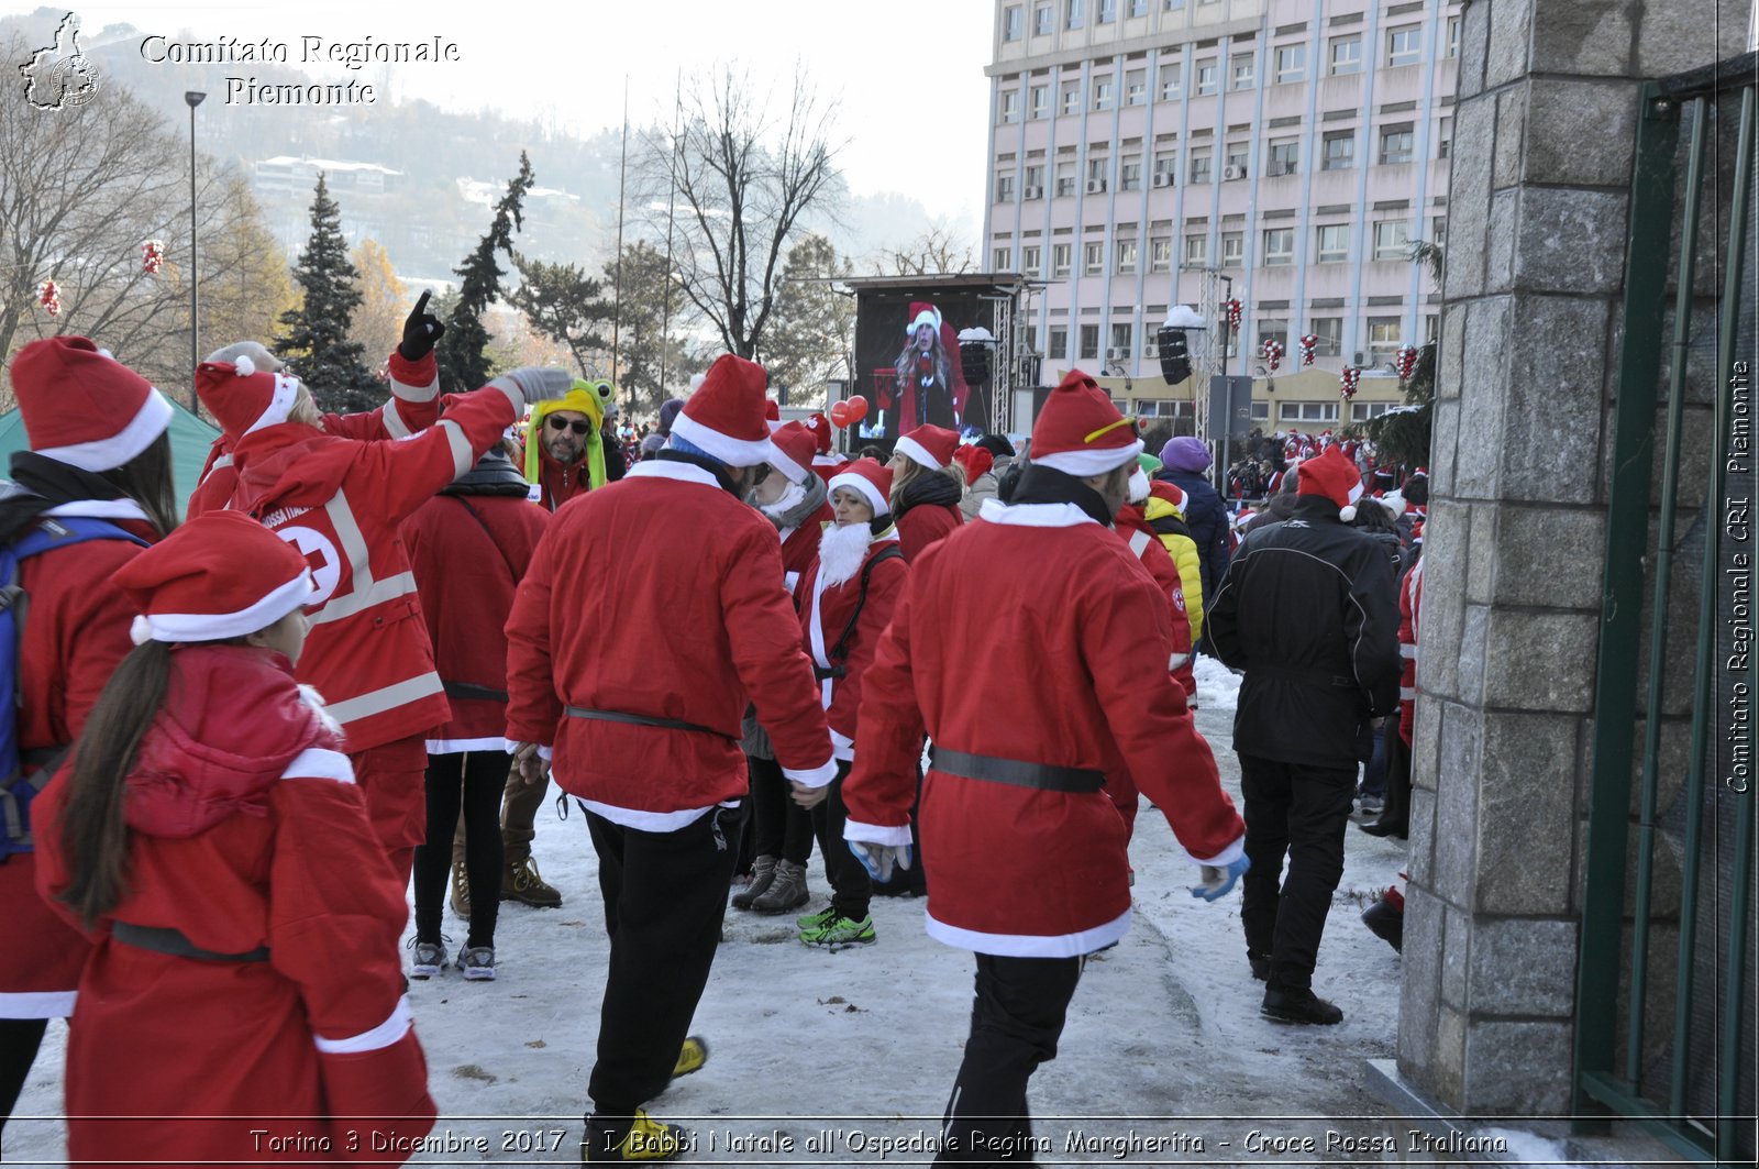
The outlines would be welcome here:
M 1754 1162 L 1755 69 L 1641 95 L 1576 998 L 1578 1116 L 1715 1164 Z

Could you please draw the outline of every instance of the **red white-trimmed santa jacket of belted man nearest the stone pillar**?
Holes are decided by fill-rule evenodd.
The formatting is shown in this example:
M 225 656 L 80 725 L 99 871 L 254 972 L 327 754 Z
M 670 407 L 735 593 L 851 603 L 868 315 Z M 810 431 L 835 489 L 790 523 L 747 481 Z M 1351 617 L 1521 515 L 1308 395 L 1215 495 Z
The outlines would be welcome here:
M 1245 827 L 1200 750 L 1170 655 L 1166 597 L 1110 528 L 1073 504 L 985 502 L 909 567 L 862 681 L 844 836 L 909 843 L 927 729 L 936 750 L 1108 775 L 1128 766 L 1193 859 L 1231 861 Z M 1068 958 L 1129 926 L 1128 834 L 1103 790 L 934 766 L 918 827 L 927 930 L 948 945 Z

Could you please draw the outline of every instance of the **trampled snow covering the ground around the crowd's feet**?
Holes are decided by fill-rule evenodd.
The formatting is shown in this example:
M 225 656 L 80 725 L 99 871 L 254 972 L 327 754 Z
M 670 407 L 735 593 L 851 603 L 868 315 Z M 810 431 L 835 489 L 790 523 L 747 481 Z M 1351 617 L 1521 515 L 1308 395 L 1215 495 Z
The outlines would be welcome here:
M 1230 750 L 1238 685 L 1214 660 L 1200 658 L 1196 669 L 1198 725 L 1238 801 Z M 1263 984 L 1245 963 L 1238 893 L 1215 905 L 1193 900 L 1196 868 L 1147 805 L 1131 856 L 1131 931 L 1087 965 L 1057 1058 L 1033 1079 L 1034 1134 L 1048 1143 L 1040 1164 L 1381 1160 L 1351 1153 L 1347 1143 L 1386 1132 L 1363 1084 L 1367 1060 L 1395 1051 L 1398 956 L 1358 914 L 1404 864 L 1404 843 L 1349 831 L 1314 979 L 1344 1009 L 1344 1023 L 1328 1028 L 1259 1018 Z M 559 910 L 503 907 L 500 979 L 464 982 L 452 972 L 410 988 L 443 1114 L 431 1139 L 471 1146 L 420 1153 L 417 1162 L 577 1162 L 607 949 L 579 812 L 566 822 L 551 812 L 540 817 L 536 857 L 566 901 Z M 816 861 L 813 891 L 816 908 L 827 894 Z M 728 912 L 693 1028 L 712 1055 L 653 1109 L 698 1134 L 686 1164 L 932 1158 L 909 1144 L 939 1129 L 969 1023 L 973 959 L 923 935 L 920 901 L 880 898 L 874 921 L 876 945 L 827 954 L 795 940 L 793 914 Z M 463 940 L 463 923 L 450 914 L 447 923 Z M 65 1035 L 65 1026 L 51 1025 L 5 1132 L 7 1164 L 65 1157 L 58 1120 Z M 827 1143 L 821 1132 L 828 1148 L 809 1148 Z M 1254 1132 L 1259 1141 L 1312 1137 L 1316 1150 L 1254 1150 L 1247 1144 Z M 475 1151 L 477 1141 L 487 1151 Z M 881 1150 L 880 1141 L 901 1144 Z

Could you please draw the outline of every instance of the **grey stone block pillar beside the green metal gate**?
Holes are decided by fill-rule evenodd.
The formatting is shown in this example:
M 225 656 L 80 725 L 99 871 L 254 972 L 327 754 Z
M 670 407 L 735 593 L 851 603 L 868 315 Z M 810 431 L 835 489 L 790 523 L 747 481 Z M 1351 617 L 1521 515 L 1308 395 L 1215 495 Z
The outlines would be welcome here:
M 1745 35 L 1745 0 L 1463 14 L 1398 1023 L 1458 1113 L 1569 1111 L 1638 79 Z

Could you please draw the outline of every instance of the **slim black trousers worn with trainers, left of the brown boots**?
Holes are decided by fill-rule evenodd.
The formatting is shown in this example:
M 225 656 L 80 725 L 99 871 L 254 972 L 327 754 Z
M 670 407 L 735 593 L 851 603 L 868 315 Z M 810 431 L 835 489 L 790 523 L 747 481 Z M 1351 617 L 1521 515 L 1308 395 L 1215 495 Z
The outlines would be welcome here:
M 427 757 L 427 836 L 415 849 L 415 937 L 440 940 L 452 833 L 464 812 L 464 873 L 470 877 L 470 938 L 494 945 L 501 912 L 501 792 L 505 752 L 456 752 Z

